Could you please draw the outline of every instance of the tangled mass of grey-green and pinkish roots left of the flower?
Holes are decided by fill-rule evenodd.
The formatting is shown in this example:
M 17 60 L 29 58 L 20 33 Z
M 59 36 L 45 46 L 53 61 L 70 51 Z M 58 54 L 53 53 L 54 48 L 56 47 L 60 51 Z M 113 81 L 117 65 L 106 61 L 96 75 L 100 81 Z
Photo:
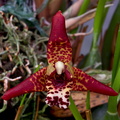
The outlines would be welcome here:
M 24 79 L 32 71 L 37 71 L 44 64 L 47 64 L 45 63 L 47 37 L 41 37 L 36 30 L 28 30 L 24 22 L 19 21 L 17 17 L 9 13 L 0 13 L 0 25 L 0 81 L 4 83 L 5 79 L 12 80 L 16 77 L 16 74 L 17 77 L 22 76 L 22 79 Z M 44 63 L 41 63 L 42 61 Z M 38 67 L 36 68 L 36 66 Z M 17 81 L 11 82 L 11 85 L 15 86 L 17 83 Z M 3 89 L 0 89 L 1 93 L 2 91 Z M 19 97 L 19 99 L 15 98 L 11 101 L 12 106 L 15 106 L 22 100 L 20 109 L 23 113 L 33 98 L 24 96 L 24 99 L 25 101 Z M 36 98 L 34 97 L 34 99 Z M 4 112 L 6 108 L 7 105 L 3 104 L 0 112 Z M 21 111 L 19 110 L 19 112 Z M 21 115 L 22 112 L 18 115 Z

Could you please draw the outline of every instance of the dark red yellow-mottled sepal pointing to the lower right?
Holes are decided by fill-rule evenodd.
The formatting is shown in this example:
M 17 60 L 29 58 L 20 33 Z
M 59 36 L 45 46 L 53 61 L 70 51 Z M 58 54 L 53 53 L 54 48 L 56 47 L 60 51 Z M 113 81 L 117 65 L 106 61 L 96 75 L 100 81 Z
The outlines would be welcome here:
M 90 90 L 92 92 L 101 93 L 104 95 L 116 96 L 118 95 L 112 88 L 100 83 L 93 77 L 84 73 L 80 69 L 74 69 L 73 90 Z

